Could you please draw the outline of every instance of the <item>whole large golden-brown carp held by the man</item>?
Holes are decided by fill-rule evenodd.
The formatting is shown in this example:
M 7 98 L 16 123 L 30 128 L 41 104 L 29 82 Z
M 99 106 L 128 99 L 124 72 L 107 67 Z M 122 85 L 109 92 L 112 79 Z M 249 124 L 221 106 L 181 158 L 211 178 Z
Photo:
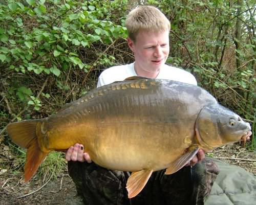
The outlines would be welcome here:
M 153 171 L 172 174 L 200 148 L 212 150 L 245 140 L 249 123 L 218 104 L 199 86 L 172 80 L 129 78 L 91 90 L 56 115 L 10 123 L 14 143 L 27 148 L 25 180 L 52 150 L 75 143 L 98 165 L 132 171 L 129 198 Z

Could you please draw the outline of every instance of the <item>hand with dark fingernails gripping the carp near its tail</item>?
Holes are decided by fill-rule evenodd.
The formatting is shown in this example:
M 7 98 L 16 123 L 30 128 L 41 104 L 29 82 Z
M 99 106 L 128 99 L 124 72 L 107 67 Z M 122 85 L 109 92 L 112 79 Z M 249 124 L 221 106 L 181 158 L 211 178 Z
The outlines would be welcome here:
M 75 144 L 74 147 L 70 147 L 66 152 L 67 161 L 78 161 L 78 162 L 88 162 L 91 163 L 91 157 L 87 152 L 83 153 L 83 145 Z

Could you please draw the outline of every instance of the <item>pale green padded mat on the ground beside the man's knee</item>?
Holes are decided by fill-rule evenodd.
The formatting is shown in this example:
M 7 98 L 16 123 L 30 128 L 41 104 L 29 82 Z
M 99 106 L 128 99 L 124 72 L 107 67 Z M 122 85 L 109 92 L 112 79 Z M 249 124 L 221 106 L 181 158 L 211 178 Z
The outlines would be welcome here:
M 243 168 L 212 160 L 220 173 L 205 205 L 256 205 L 256 176 Z

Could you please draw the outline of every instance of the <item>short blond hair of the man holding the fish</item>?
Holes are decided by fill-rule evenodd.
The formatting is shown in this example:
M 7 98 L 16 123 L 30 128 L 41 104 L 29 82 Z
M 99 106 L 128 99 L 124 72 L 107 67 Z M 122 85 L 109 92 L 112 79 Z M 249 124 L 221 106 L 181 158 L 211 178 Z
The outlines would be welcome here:
M 156 7 L 140 6 L 127 15 L 125 25 L 129 37 L 135 41 L 139 31 L 170 31 L 170 21 Z

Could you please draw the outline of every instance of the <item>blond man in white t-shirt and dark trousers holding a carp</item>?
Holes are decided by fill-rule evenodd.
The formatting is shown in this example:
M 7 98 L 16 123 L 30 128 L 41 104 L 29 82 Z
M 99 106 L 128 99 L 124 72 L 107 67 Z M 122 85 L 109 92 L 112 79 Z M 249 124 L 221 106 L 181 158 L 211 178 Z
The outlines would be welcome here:
M 152 6 L 138 7 L 127 16 L 126 27 L 129 34 L 127 43 L 134 53 L 135 62 L 103 71 L 98 87 L 131 76 L 197 84 L 190 73 L 165 64 L 169 54 L 170 23 L 162 12 Z M 164 175 L 164 170 L 154 172 L 142 192 L 129 200 L 125 184 L 130 173 L 97 166 L 91 162 L 88 153 L 83 153 L 83 145 L 80 144 L 70 147 L 66 153 L 70 176 L 88 205 L 203 204 L 218 174 L 217 166 L 212 162 L 206 163 L 204 158 L 203 150 L 199 150 L 197 156 L 175 174 Z M 203 163 L 198 163 L 202 160 Z

